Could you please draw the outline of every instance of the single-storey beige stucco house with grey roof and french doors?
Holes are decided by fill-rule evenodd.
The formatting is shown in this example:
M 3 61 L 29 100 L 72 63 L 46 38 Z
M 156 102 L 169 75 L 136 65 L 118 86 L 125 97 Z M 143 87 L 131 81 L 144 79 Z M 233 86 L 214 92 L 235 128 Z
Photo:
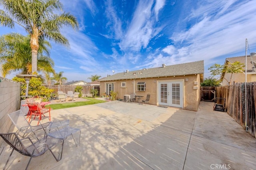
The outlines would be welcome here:
M 200 103 L 200 82 L 204 77 L 204 61 L 144 68 L 117 73 L 100 79 L 100 95 L 118 92 L 118 98 L 136 93 L 150 94 L 149 104 L 180 107 L 197 111 Z

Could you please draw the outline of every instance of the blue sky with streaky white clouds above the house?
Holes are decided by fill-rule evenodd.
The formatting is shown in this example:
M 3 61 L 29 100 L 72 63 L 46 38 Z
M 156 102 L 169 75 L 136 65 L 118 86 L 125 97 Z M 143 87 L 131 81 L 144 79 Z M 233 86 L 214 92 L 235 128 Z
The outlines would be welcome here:
M 90 82 L 107 74 L 204 60 L 204 77 L 227 57 L 256 52 L 256 0 L 60 0 L 79 30 L 70 48 L 52 43 L 56 72 Z M 26 32 L 0 27 L 0 35 Z M 186 69 L 186 68 L 180 68 Z M 12 78 L 16 74 L 10 74 Z

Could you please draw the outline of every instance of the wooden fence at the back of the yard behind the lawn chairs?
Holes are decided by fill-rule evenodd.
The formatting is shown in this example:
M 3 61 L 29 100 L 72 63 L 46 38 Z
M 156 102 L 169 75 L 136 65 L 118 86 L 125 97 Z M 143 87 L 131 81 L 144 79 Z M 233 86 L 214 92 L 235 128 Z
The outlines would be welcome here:
M 64 93 L 67 93 L 68 91 L 75 91 L 76 86 L 81 86 L 81 85 L 48 85 L 44 84 L 43 86 L 54 89 L 54 93 L 57 94 L 58 91 L 62 91 Z M 82 86 L 82 95 L 83 96 L 92 96 L 90 93 L 91 89 L 97 89 L 98 90 L 98 95 L 100 94 L 100 86 Z

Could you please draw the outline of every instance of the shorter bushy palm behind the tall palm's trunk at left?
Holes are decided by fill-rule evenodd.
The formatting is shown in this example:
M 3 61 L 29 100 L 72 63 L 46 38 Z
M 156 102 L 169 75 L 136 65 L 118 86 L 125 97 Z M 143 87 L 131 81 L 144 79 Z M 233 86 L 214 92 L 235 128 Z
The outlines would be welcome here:
M 50 43 L 44 39 L 39 39 L 38 48 L 38 70 L 44 76 L 50 77 L 54 73 L 54 62 L 50 59 Z M 47 56 L 45 56 L 45 55 Z M 5 77 L 14 71 L 21 74 L 32 73 L 32 56 L 30 48 L 30 35 L 24 36 L 19 33 L 10 33 L 0 36 L 0 62 L 2 63 L 1 73 Z

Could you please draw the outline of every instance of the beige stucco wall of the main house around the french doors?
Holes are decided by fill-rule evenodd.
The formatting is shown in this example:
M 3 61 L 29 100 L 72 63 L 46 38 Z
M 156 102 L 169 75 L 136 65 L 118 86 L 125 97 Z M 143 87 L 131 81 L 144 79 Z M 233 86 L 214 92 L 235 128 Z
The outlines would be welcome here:
M 186 78 L 188 82 L 186 82 Z M 100 82 L 100 96 L 106 92 L 106 84 L 114 84 L 114 92 L 118 92 L 118 98 L 124 99 L 124 95 L 136 93 L 136 95 L 144 96 L 143 99 L 146 99 L 147 94 L 150 94 L 149 104 L 158 105 L 158 82 L 160 81 L 183 81 L 183 109 L 197 111 L 200 103 L 200 76 L 199 74 L 186 75 L 186 76 L 167 76 L 159 78 L 141 78 L 141 79 L 132 79 L 132 80 L 115 80 L 115 81 L 101 81 Z M 121 82 L 126 82 L 126 87 L 121 87 Z M 146 91 L 137 91 L 136 84 L 138 82 L 146 82 Z M 195 84 L 197 82 L 197 84 Z M 196 86 L 197 89 L 193 89 Z

